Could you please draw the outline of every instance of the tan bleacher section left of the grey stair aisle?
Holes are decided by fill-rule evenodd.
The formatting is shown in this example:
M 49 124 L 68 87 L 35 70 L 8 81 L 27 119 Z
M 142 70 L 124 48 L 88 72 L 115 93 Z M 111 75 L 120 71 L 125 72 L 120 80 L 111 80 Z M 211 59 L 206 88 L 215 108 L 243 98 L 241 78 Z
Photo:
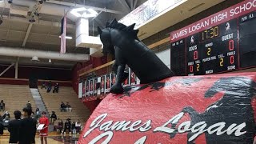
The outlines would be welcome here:
M 25 85 L 0 85 L 0 100 L 6 103 L 6 111 L 10 113 L 10 118 L 14 119 L 14 110 L 21 110 L 26 106 L 27 101 L 30 101 L 32 109 L 36 106 L 34 98 L 30 92 L 29 86 Z M 4 114 L 4 112 L 0 112 Z

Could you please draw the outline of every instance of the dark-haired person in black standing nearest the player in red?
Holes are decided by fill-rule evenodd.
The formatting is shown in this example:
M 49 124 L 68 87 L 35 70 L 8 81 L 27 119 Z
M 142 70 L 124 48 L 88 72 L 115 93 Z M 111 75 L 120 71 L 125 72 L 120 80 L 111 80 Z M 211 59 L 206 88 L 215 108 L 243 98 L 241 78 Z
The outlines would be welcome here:
M 32 110 L 29 107 L 23 108 L 23 118 L 20 121 L 18 144 L 31 144 L 34 142 L 36 133 L 36 122 L 30 118 Z

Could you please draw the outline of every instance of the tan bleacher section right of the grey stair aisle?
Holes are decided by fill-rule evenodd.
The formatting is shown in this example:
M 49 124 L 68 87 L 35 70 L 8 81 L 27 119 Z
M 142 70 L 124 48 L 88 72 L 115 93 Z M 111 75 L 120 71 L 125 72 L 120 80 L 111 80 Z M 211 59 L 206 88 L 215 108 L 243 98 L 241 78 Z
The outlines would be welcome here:
M 38 90 L 49 114 L 51 114 L 51 111 L 55 111 L 57 118 L 62 119 L 63 122 L 66 122 L 66 118 L 70 117 L 72 122 L 76 122 L 79 119 L 83 126 L 90 117 L 90 110 L 77 98 L 77 94 L 75 94 L 72 87 L 61 86 L 58 93 L 53 93 L 52 91 L 47 93 L 46 89 L 41 89 L 41 86 L 38 86 Z M 61 112 L 61 102 L 65 104 L 69 102 L 72 112 Z

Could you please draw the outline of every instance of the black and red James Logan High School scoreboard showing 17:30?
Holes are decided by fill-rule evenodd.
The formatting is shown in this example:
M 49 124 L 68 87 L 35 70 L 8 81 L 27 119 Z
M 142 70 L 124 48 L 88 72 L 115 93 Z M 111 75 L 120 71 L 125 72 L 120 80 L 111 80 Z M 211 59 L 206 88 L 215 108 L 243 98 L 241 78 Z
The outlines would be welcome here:
M 170 34 L 170 66 L 176 75 L 218 74 L 256 67 L 256 0 Z

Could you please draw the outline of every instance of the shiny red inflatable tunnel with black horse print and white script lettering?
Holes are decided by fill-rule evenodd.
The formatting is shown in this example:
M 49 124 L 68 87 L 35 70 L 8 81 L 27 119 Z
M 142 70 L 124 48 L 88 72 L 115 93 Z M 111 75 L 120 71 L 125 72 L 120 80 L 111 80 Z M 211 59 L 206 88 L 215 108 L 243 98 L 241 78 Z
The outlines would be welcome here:
M 166 78 L 109 94 L 80 144 L 253 143 L 256 73 Z

